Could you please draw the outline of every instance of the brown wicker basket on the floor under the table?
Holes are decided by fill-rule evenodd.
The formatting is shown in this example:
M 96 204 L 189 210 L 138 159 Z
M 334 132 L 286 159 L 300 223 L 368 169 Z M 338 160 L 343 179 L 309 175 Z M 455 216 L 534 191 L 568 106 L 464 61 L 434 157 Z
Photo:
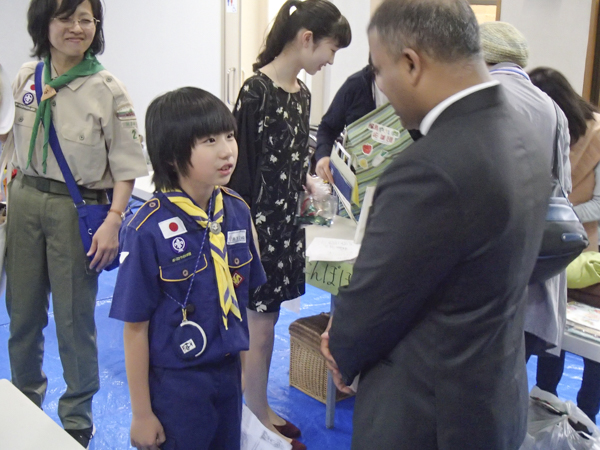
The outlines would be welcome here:
M 320 347 L 328 322 L 329 314 L 321 313 L 290 325 L 290 386 L 322 403 L 327 400 L 327 366 Z M 350 396 L 336 389 L 336 401 Z

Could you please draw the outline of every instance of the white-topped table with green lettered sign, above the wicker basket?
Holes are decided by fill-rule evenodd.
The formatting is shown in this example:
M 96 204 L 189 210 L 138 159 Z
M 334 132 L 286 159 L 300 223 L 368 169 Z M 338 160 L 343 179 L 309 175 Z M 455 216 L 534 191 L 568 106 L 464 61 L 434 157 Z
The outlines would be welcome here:
M 306 248 L 315 237 L 334 239 L 354 239 L 356 224 L 351 219 L 335 216 L 331 227 L 309 225 L 306 227 Z M 331 294 L 331 313 L 338 288 L 346 284 L 352 275 L 352 264 L 349 262 L 307 262 L 306 282 Z M 325 426 L 333 428 L 335 419 L 336 387 L 331 372 L 327 371 L 327 399 L 325 402 Z

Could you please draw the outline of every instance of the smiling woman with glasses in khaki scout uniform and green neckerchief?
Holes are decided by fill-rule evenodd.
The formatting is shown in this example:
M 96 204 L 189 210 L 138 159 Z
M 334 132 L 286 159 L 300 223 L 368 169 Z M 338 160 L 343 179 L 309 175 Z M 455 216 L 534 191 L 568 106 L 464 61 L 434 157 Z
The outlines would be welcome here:
M 147 169 L 129 96 L 95 56 L 104 48 L 100 0 L 32 0 L 27 17 L 33 53 L 44 62 L 44 95 L 36 95 L 38 63 L 24 64 L 13 83 L 15 123 L 6 142 L 14 146 L 17 169 L 9 186 L 6 255 L 11 375 L 41 407 L 47 386 L 42 330 L 52 292 L 67 384 L 58 414 L 85 447 L 93 435 L 92 397 L 99 388 L 98 272 L 117 256 L 122 213 L 134 179 Z M 106 189 L 114 189 L 111 213 L 93 236 L 89 255 L 48 145 L 51 123 L 85 201 L 106 203 Z

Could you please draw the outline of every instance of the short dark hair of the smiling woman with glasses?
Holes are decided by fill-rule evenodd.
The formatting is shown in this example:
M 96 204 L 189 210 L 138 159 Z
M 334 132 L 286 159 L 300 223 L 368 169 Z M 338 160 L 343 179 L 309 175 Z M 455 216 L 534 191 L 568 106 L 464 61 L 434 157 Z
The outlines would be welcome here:
M 27 11 L 27 31 L 33 40 L 33 49 L 31 56 L 40 59 L 50 54 L 50 39 L 48 38 L 48 27 L 50 21 L 55 17 L 69 17 L 73 15 L 77 7 L 85 0 L 62 0 L 60 6 L 57 0 L 31 0 L 29 10 Z M 99 55 L 104 51 L 104 31 L 102 22 L 104 12 L 101 0 L 89 0 L 92 5 L 94 18 L 98 20 L 96 25 L 96 34 L 90 49 L 94 55 Z

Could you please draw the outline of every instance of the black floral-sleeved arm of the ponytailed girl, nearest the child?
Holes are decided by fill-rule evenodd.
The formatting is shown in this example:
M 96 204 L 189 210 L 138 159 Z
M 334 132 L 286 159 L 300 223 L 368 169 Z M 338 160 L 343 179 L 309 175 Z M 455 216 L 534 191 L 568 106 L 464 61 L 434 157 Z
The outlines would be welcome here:
M 233 115 L 237 121 L 238 159 L 227 186 L 236 191 L 252 207 L 252 193 L 258 155 L 263 145 L 263 120 L 267 92 L 260 80 L 244 84 Z

